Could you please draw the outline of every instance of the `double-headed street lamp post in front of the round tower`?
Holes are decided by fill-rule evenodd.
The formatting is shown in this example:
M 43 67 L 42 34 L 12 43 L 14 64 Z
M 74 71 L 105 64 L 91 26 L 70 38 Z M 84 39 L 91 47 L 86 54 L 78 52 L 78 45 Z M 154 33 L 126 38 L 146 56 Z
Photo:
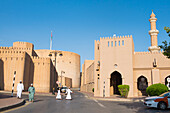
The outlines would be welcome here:
M 57 58 L 57 54 L 58 54 L 58 53 L 59 53 L 59 56 L 63 56 L 63 54 L 62 54 L 61 51 L 56 51 L 56 50 L 54 50 L 54 51 L 51 51 L 51 52 L 49 53 L 50 58 L 51 58 L 52 54 L 54 54 L 54 67 L 55 67 L 55 68 L 54 68 L 54 80 L 55 80 L 56 58 Z M 55 82 L 53 83 L 53 92 L 52 92 L 53 95 L 55 95 L 54 90 L 55 90 Z

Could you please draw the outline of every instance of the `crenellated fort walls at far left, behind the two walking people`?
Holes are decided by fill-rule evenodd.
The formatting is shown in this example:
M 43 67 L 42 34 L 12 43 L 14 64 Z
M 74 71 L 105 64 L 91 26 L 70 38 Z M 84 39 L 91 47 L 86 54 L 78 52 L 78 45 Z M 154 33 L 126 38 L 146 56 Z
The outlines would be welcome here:
M 12 47 L 0 47 L 0 89 L 12 90 L 14 71 L 14 91 L 20 80 L 23 81 L 25 91 L 31 83 L 36 92 L 50 92 L 53 85 L 56 88 L 58 76 L 54 73 L 51 59 L 32 56 L 35 53 L 33 47 L 33 44 L 27 42 L 14 42 Z

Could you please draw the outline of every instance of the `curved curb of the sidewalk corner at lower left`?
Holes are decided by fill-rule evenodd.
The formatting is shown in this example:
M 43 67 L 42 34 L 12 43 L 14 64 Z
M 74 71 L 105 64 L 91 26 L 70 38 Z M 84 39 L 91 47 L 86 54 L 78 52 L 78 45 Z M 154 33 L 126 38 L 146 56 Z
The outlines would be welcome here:
M 3 108 L 0 108 L 0 112 L 5 111 L 5 110 L 9 110 L 9 109 L 12 109 L 12 108 L 15 108 L 15 107 L 22 106 L 25 103 L 26 103 L 26 101 L 24 99 L 22 99 L 22 101 L 18 102 L 17 104 L 13 104 L 13 105 L 10 105 L 10 106 L 6 106 L 6 107 L 3 107 Z

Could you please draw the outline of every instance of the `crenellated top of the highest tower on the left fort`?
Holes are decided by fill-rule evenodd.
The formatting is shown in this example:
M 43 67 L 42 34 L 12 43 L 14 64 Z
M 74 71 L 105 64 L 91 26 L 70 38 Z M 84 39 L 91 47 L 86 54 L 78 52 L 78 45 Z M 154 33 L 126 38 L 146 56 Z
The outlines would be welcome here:
M 13 48 L 30 48 L 34 49 L 34 45 L 29 42 L 14 42 Z

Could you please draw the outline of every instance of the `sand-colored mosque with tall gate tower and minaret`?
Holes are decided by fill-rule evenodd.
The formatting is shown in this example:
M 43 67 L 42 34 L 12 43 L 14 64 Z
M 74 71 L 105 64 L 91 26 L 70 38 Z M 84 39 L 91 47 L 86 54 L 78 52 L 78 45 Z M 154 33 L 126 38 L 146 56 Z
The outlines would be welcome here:
M 157 18 L 150 15 L 151 46 L 149 52 L 135 52 L 133 37 L 113 36 L 95 40 L 94 60 L 82 65 L 81 91 L 94 96 L 110 97 L 119 94 L 118 85 L 130 86 L 129 97 L 146 95 L 146 88 L 155 83 L 167 84 L 170 59 L 158 47 Z

